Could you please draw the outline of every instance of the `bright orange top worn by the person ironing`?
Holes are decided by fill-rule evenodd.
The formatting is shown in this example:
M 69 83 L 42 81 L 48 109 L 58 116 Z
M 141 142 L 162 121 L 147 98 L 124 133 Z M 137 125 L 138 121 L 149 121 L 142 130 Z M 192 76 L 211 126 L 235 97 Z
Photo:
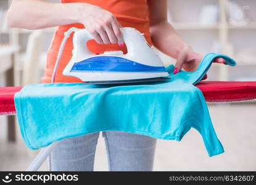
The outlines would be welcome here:
M 149 44 L 152 45 L 151 34 L 149 33 L 149 12 L 147 8 L 147 0 L 60 0 L 62 3 L 68 2 L 87 2 L 100 6 L 103 9 L 109 10 L 117 17 L 118 22 L 122 27 L 133 27 L 144 33 L 144 36 Z M 51 46 L 47 52 L 47 65 L 44 70 L 44 76 L 41 79 L 42 83 L 51 83 L 51 75 L 56 62 L 57 54 L 62 39 L 64 38 L 64 32 L 71 27 L 84 28 L 80 23 L 72 25 L 63 25 L 57 28 L 52 38 Z M 72 43 L 73 35 L 68 38 L 64 47 L 62 58 L 59 62 L 59 67 L 56 73 L 56 82 L 81 82 L 80 79 L 72 76 L 62 75 L 62 71 L 68 64 L 72 57 Z M 124 53 L 126 47 L 120 47 L 118 44 L 97 44 L 96 41 L 89 41 L 88 48 L 94 53 L 103 53 L 104 51 L 122 50 Z

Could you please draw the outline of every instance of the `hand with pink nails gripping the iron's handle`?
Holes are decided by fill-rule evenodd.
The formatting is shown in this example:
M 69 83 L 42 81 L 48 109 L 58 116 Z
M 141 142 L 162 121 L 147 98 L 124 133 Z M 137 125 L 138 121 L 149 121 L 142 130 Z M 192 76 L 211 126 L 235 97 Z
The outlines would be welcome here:
M 79 14 L 79 22 L 85 25 L 97 43 L 123 46 L 121 26 L 111 12 L 86 3 L 80 6 Z

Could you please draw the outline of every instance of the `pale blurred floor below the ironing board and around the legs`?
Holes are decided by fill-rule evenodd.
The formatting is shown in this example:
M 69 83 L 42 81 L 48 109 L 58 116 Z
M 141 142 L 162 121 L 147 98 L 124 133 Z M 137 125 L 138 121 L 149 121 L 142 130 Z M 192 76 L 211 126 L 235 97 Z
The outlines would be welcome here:
M 158 140 L 155 171 L 256 170 L 256 104 L 210 104 L 209 111 L 225 153 L 208 157 L 200 134 L 192 129 L 181 142 Z M 3 117 L 1 122 L 0 170 L 25 170 L 36 152 L 30 152 L 23 141 L 6 142 Z M 47 170 L 46 163 L 40 170 Z M 108 170 L 102 137 L 97 145 L 94 170 Z

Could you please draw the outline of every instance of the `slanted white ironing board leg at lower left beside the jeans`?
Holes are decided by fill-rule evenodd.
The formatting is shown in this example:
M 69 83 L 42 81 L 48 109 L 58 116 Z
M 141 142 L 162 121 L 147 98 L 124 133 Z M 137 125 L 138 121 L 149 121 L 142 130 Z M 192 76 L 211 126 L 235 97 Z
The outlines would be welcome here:
M 51 151 L 54 149 L 54 147 L 57 146 L 58 142 L 59 141 L 56 141 L 51 145 L 41 149 L 38 155 L 36 155 L 34 160 L 30 163 L 30 166 L 27 168 L 26 171 L 38 171 L 38 169 L 41 167 L 41 165 L 46 160 Z

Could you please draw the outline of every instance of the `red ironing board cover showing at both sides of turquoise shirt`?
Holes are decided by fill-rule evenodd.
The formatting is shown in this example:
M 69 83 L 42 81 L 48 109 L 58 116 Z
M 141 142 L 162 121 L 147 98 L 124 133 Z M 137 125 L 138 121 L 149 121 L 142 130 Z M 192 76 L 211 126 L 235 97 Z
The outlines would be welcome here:
M 256 81 L 200 81 L 196 84 L 207 102 L 256 99 Z M 15 114 L 14 94 L 22 87 L 0 87 L 0 115 Z

